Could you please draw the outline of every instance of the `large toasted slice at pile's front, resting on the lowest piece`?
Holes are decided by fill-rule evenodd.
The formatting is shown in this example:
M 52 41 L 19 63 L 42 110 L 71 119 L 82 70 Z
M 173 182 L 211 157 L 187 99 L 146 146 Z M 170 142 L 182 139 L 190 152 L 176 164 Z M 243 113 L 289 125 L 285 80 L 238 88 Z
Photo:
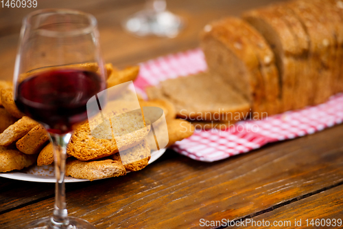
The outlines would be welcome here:
M 116 112 L 113 111 L 113 116 Z M 123 113 L 110 120 L 97 126 L 93 133 L 88 122 L 80 125 L 71 137 L 67 153 L 82 161 L 107 157 L 117 153 L 118 149 L 123 151 L 139 144 L 150 131 L 150 126 L 143 126 L 140 110 Z

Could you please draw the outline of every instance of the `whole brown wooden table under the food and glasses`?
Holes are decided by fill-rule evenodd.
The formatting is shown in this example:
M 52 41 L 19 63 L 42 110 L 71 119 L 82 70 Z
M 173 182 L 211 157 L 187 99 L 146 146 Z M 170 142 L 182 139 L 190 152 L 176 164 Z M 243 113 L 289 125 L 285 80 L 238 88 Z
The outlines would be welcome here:
M 38 0 L 38 8 L 94 14 L 106 62 L 124 67 L 198 47 L 198 33 L 207 22 L 268 2 L 168 1 L 169 10 L 187 19 L 187 28 L 175 39 L 141 39 L 123 32 L 120 21 L 143 8 L 143 0 Z M 30 11 L 0 8 L 1 79 L 12 78 L 21 19 Z M 220 162 L 197 162 L 168 149 L 143 171 L 67 184 L 67 206 L 69 215 L 97 228 L 200 228 L 205 220 L 206 228 L 215 228 L 211 221 L 222 219 L 290 221 L 289 228 L 296 227 L 294 219 L 302 219 L 307 228 L 306 219 L 343 219 L 342 168 L 341 124 Z M 21 228 L 51 215 L 53 207 L 54 184 L 0 178 L 0 228 Z

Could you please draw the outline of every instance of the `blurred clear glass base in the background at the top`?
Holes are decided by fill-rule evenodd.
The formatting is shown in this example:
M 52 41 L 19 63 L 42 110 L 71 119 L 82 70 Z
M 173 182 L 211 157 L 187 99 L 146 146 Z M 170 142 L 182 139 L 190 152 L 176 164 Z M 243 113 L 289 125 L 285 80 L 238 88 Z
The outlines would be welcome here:
M 173 38 L 184 26 L 184 21 L 169 11 L 141 10 L 124 21 L 123 27 L 137 36 L 164 36 Z

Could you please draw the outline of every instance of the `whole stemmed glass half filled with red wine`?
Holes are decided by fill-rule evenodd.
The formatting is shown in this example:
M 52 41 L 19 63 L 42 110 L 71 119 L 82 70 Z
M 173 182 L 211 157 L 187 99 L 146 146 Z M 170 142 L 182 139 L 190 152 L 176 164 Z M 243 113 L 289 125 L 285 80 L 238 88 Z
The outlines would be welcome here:
M 87 119 L 88 100 L 106 89 L 95 17 L 58 9 L 27 15 L 21 29 L 14 85 L 17 107 L 43 124 L 54 144 L 54 213 L 27 228 L 95 228 L 88 221 L 68 217 L 64 188 L 71 132 L 76 124 Z

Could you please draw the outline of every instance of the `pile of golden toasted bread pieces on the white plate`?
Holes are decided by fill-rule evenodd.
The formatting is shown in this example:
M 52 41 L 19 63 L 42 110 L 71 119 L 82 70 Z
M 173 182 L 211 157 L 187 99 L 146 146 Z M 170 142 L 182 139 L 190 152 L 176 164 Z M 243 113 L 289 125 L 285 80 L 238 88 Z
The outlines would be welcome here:
M 79 66 L 91 67 L 96 72 L 95 65 L 86 64 Z M 113 87 L 121 83 L 134 80 L 139 67 L 128 67 L 121 71 L 113 65 L 106 65 L 108 80 L 107 85 Z M 13 100 L 13 86 L 7 81 L 0 81 L 0 172 L 21 170 L 37 163 L 38 166 L 52 164 L 54 153 L 49 135 L 41 124 L 24 116 Z M 145 101 L 139 98 L 141 107 L 160 107 L 165 113 L 169 143 L 189 137 L 193 133 L 193 126 L 185 121 L 176 119 L 176 111 L 166 100 Z M 126 116 L 127 115 L 127 116 Z M 147 166 L 150 160 L 150 145 L 146 136 L 150 128 L 139 131 L 130 131 L 129 125 L 142 122 L 142 114 L 137 116 L 132 112 L 124 113 L 121 118 L 126 121 L 124 127 L 117 127 L 117 132 L 129 133 L 119 147 L 115 139 L 94 138 L 88 122 L 76 127 L 67 148 L 66 175 L 78 179 L 101 179 L 126 175 L 127 171 L 139 171 Z M 137 122 L 137 123 L 134 123 Z M 125 163 L 124 163 L 125 162 Z

